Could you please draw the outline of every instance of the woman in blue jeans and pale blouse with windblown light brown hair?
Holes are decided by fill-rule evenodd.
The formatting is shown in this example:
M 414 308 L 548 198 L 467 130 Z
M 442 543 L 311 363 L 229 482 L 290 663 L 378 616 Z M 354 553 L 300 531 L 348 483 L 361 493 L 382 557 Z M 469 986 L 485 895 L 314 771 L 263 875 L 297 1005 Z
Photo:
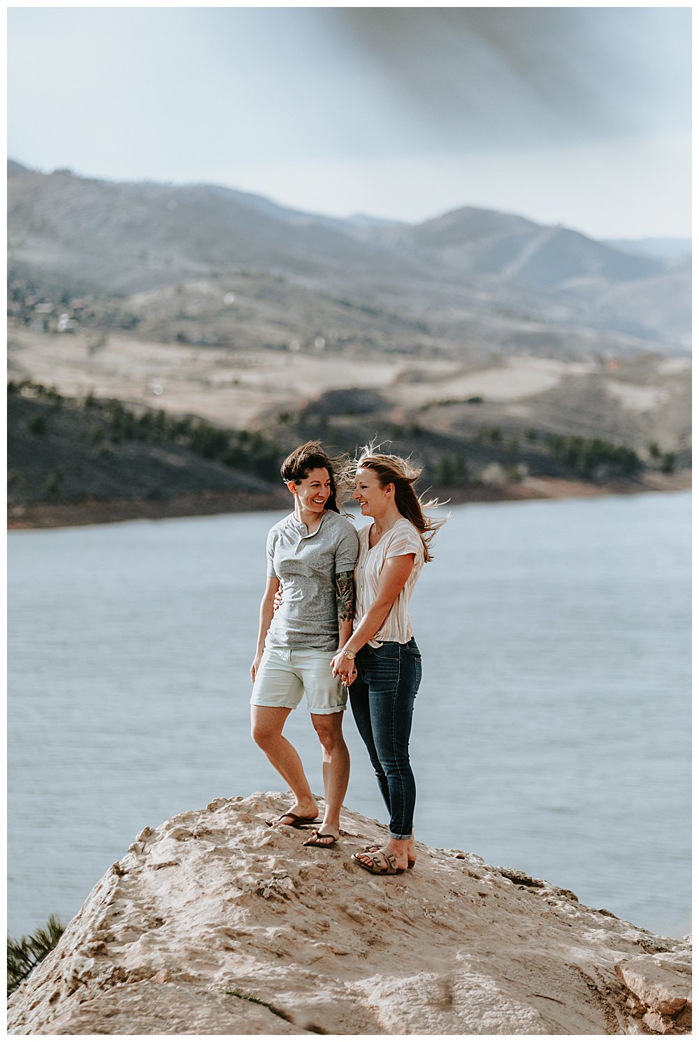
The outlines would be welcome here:
M 408 743 L 413 708 L 422 677 L 408 602 L 430 544 L 446 517 L 430 518 L 414 485 L 420 470 L 407 460 L 368 446 L 356 463 L 356 499 L 373 523 L 359 530 L 355 570 L 354 631 L 332 660 L 333 672 L 350 684 L 350 702 L 391 815 L 382 848 L 353 854 L 363 868 L 394 875 L 416 862 L 413 833 L 416 788 Z

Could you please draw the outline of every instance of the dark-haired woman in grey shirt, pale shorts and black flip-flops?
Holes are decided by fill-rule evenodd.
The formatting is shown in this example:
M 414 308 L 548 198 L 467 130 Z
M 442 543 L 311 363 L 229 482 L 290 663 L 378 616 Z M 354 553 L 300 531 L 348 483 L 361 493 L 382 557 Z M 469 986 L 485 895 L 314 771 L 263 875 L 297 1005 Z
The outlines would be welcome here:
M 305 692 L 323 747 L 325 813 L 304 846 L 329 847 L 340 838 L 340 809 L 349 782 L 343 684 L 353 678 L 348 670 L 342 677 L 335 675 L 330 660 L 352 631 L 357 535 L 340 514 L 333 461 L 320 442 L 295 449 L 284 460 L 281 476 L 294 497 L 294 510 L 267 538 L 267 587 L 250 668 L 252 738 L 296 797 L 270 824 L 315 823 L 318 803 L 298 752 L 281 733 Z M 280 584 L 283 596 L 275 612 Z

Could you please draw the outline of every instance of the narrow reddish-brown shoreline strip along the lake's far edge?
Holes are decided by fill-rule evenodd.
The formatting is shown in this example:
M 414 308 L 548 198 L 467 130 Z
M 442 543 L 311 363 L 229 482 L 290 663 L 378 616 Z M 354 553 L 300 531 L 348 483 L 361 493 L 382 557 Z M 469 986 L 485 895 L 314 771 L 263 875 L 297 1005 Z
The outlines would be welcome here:
M 439 497 L 453 505 L 463 503 L 522 502 L 532 499 L 582 499 L 591 496 L 639 495 L 645 492 L 680 492 L 692 488 L 692 471 L 646 475 L 643 480 L 615 478 L 605 482 L 572 481 L 557 477 L 527 477 L 510 485 L 473 485 L 442 488 Z M 434 490 L 431 489 L 428 495 Z M 120 521 L 156 521 L 167 518 L 209 517 L 253 511 L 283 511 L 284 493 L 207 489 L 171 499 L 85 499 L 78 503 L 33 503 L 11 506 L 7 528 L 69 528 L 114 524 Z

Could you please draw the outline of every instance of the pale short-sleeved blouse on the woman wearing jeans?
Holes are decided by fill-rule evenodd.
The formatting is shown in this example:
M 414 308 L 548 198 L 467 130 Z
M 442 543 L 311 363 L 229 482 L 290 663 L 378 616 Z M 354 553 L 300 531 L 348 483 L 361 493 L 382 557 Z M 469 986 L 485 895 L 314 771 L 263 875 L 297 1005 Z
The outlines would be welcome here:
M 393 602 L 393 606 L 373 640 L 367 643 L 373 648 L 380 647 L 385 641 L 407 644 L 413 634 L 413 623 L 407 612 L 408 601 L 418 581 L 418 576 L 425 563 L 425 547 L 420 532 L 406 518 L 396 521 L 388 531 L 384 531 L 375 546 L 369 546 L 369 530 L 366 525 L 357 532 L 359 537 L 359 556 L 354 572 L 356 584 L 355 628 L 363 615 L 370 607 L 378 591 L 378 580 L 383 565 L 389 557 L 399 557 L 403 553 L 415 553 L 413 571 L 407 582 Z

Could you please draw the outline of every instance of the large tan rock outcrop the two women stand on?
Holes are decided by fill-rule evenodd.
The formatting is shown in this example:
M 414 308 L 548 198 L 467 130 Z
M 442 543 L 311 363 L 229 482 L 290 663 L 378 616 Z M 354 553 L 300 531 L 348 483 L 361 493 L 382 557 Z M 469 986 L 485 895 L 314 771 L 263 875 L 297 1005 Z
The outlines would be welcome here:
M 289 798 L 217 799 L 144 828 L 13 995 L 29 1035 L 688 1034 L 690 952 L 473 853 L 414 870 L 269 828 Z

